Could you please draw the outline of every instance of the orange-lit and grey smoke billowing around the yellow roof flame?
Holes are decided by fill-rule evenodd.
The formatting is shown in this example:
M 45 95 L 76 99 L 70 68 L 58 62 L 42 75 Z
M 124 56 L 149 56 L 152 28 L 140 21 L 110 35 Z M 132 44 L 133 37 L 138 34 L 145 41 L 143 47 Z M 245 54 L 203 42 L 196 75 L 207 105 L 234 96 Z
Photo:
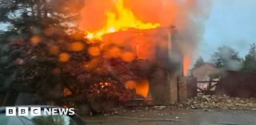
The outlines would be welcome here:
M 106 25 L 106 11 L 115 12 L 117 0 L 86 0 L 82 9 L 80 29 L 95 31 Z M 192 57 L 202 41 L 204 21 L 210 12 L 210 0 L 124 0 L 126 8 L 143 22 L 161 26 L 174 25 L 178 29 L 178 43 L 182 53 Z

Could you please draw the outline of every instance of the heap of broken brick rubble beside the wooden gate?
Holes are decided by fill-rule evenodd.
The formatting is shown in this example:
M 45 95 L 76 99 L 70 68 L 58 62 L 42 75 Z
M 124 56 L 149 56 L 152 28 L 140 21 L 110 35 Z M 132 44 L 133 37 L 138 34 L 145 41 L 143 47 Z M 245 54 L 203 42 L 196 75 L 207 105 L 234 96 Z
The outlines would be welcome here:
M 256 110 L 256 99 L 203 95 L 188 99 L 178 104 L 178 107 Z

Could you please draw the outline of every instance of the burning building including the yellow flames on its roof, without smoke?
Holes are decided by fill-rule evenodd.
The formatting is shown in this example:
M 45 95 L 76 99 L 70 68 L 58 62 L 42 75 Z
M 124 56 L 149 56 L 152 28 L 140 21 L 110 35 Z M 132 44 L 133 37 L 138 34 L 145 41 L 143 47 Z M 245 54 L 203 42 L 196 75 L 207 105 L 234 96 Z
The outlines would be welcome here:
M 123 0 L 118 0 L 114 7 L 117 14 L 106 12 L 105 26 L 86 31 L 90 55 L 120 58 L 129 63 L 114 63 L 110 71 L 137 95 L 152 97 L 155 104 L 177 101 L 178 77 L 186 74 L 190 64 L 190 56 L 176 41 L 178 30 L 138 20 Z

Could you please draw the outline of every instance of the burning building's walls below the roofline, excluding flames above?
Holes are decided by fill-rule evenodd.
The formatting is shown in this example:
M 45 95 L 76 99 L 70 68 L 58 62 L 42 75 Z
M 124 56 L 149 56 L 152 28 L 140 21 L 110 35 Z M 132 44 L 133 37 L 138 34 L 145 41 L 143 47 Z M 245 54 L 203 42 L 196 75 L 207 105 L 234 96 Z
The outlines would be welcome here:
M 130 68 L 135 65 L 138 70 L 136 76 L 145 79 L 142 83 L 137 83 L 134 89 L 141 96 L 151 96 L 155 103 L 170 103 L 178 98 L 178 77 L 184 76 L 184 72 L 183 55 L 175 41 L 175 32 L 177 30 L 174 26 L 129 29 L 109 33 L 102 38 L 102 41 L 121 45 L 119 47 L 122 51 L 134 54 L 135 61 Z M 118 43 L 111 43 L 112 41 Z M 121 58 L 126 61 L 126 53 Z M 127 84 L 132 86 L 129 82 Z

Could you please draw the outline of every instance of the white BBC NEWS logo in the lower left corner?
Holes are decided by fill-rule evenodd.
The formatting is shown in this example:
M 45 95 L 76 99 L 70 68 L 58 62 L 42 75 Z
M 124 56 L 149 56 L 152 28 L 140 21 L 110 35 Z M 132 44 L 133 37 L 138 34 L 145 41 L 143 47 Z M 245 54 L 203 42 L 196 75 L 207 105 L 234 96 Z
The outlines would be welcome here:
M 6 116 L 74 115 L 74 108 L 63 107 L 6 107 Z

